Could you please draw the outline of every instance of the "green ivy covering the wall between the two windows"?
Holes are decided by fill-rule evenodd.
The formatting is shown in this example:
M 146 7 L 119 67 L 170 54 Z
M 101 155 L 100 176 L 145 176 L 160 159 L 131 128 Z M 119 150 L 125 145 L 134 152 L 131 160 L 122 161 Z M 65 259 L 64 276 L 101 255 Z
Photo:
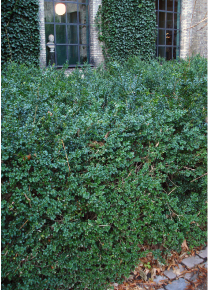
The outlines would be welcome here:
M 102 0 L 97 26 L 106 59 L 155 55 L 155 0 Z

